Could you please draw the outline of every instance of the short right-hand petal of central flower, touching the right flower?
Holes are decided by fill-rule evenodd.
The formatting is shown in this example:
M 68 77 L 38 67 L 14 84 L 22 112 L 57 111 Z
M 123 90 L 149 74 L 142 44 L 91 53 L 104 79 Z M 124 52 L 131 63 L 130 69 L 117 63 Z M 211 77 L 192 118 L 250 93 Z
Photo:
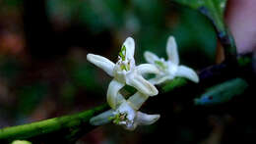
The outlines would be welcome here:
M 137 66 L 137 70 L 141 73 L 141 74 L 145 74 L 145 73 L 160 73 L 159 69 L 152 65 L 152 64 L 142 64 Z

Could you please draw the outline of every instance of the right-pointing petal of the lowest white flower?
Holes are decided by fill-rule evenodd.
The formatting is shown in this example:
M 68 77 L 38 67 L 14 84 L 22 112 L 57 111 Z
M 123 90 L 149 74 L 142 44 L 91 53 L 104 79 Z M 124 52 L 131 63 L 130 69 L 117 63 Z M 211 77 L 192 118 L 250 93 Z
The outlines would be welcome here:
M 136 122 L 138 125 L 150 125 L 159 119 L 160 115 L 148 115 L 142 112 L 138 112 Z

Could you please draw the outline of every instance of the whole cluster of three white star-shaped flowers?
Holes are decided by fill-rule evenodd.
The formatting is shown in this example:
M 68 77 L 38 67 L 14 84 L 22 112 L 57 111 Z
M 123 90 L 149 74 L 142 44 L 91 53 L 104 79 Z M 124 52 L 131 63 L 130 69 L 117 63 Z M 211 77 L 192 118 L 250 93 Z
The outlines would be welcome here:
M 133 130 L 138 125 L 149 125 L 160 119 L 160 115 L 148 115 L 139 111 L 142 104 L 150 97 L 158 95 L 159 91 L 154 86 L 175 76 L 183 76 L 198 82 L 196 72 L 185 66 L 178 66 L 179 58 L 177 46 L 172 36 L 168 38 L 166 52 L 168 60 L 160 59 L 151 52 L 145 53 L 149 64 L 135 65 L 135 42 L 128 37 L 121 47 L 117 63 L 108 59 L 88 54 L 87 59 L 113 77 L 107 89 L 108 110 L 90 121 L 93 125 L 101 125 L 109 121 L 122 125 L 125 129 Z M 156 74 L 155 78 L 147 80 L 143 77 L 146 73 Z M 125 99 L 120 93 L 123 86 L 130 85 L 137 92 Z

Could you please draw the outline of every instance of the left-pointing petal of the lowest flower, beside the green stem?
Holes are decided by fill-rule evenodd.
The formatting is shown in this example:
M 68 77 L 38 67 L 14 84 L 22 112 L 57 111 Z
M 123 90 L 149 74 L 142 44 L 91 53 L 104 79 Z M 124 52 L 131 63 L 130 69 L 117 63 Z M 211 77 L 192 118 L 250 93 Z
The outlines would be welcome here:
M 90 120 L 90 123 L 92 125 L 102 125 L 105 123 L 110 122 L 111 120 L 109 119 L 110 117 L 113 117 L 113 110 L 108 110 L 106 112 L 103 112 L 99 115 L 97 115 L 96 117 L 92 118 Z

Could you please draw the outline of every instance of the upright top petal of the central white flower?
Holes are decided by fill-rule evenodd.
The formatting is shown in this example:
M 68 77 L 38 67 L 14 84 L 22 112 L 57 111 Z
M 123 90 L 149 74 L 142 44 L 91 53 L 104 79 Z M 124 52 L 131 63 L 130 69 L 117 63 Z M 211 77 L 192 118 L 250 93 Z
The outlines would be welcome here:
M 134 59 L 135 42 L 132 37 L 126 38 L 123 45 L 126 47 L 126 58 L 128 60 Z

